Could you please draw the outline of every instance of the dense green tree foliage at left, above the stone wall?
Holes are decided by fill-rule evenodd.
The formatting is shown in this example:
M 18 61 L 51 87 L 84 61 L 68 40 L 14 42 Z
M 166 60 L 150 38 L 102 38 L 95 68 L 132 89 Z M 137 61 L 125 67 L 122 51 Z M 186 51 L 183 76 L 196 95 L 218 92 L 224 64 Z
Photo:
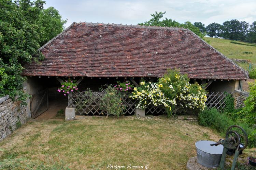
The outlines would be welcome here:
M 18 96 L 18 100 L 26 100 L 22 89 L 26 78 L 20 75 L 24 69 L 22 65 L 42 60 L 43 55 L 37 49 L 50 38 L 43 29 L 60 27 L 43 13 L 44 4 L 42 0 L 4 0 L 0 3 L 0 97 L 10 95 L 12 99 Z M 54 8 L 51 9 L 53 11 Z M 49 18 L 46 20 L 43 16 Z M 63 29 L 63 24 L 62 20 L 58 31 L 52 29 L 53 34 L 57 35 Z

